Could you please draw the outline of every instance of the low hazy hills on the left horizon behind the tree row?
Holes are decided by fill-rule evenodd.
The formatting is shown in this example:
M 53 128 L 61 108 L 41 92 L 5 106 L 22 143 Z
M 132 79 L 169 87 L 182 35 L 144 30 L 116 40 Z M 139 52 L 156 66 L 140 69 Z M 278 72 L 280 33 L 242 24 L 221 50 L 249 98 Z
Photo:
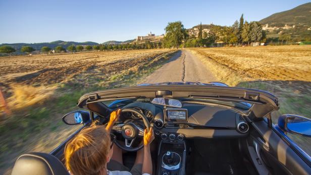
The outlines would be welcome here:
M 0 44 L 2 45 L 9 45 L 11 47 L 14 47 L 17 50 L 17 53 L 21 50 L 22 46 L 30 46 L 35 48 L 36 50 L 40 50 L 41 47 L 43 46 L 48 46 L 50 48 L 55 48 L 58 45 L 63 46 L 64 48 L 67 48 L 69 45 L 97 45 L 98 43 L 96 42 L 74 42 L 74 41 L 53 41 L 53 42 L 40 42 L 40 43 L 13 43 L 13 44 L 8 44 L 8 43 L 3 43 Z

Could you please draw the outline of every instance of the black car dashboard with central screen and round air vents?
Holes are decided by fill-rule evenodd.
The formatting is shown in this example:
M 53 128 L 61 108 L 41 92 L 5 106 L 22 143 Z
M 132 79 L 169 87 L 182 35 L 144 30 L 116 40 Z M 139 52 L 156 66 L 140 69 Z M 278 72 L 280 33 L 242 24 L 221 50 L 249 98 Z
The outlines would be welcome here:
M 162 139 L 245 137 L 249 125 L 236 111 L 220 106 L 183 103 L 182 108 L 133 102 L 123 108 L 134 108 L 145 114 L 156 136 Z M 124 119 L 139 119 L 135 113 L 121 114 Z

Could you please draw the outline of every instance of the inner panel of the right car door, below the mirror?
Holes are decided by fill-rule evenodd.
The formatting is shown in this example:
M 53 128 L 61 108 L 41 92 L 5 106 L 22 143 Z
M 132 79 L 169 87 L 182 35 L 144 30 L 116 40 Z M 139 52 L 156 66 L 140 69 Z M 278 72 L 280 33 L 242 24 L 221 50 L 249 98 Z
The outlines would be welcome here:
M 265 121 L 252 122 L 250 139 L 260 147 L 259 157 L 273 174 L 311 174 L 310 166 Z M 258 139 L 259 138 L 259 139 Z

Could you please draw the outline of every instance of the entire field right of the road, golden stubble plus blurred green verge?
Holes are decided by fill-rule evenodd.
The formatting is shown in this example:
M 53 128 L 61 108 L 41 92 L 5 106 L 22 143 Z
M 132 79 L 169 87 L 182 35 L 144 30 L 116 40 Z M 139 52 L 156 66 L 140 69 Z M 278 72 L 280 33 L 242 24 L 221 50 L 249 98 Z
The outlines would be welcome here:
M 311 45 L 190 49 L 218 78 L 230 86 L 261 89 L 279 98 L 284 113 L 311 118 Z M 311 154 L 311 139 L 290 135 Z

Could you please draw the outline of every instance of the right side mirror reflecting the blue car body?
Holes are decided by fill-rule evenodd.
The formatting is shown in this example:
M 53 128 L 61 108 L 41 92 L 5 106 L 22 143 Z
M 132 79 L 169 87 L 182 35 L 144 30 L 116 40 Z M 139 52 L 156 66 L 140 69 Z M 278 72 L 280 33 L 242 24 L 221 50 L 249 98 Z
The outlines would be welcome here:
M 283 114 L 279 116 L 278 126 L 291 134 L 311 137 L 311 120 L 303 116 Z

